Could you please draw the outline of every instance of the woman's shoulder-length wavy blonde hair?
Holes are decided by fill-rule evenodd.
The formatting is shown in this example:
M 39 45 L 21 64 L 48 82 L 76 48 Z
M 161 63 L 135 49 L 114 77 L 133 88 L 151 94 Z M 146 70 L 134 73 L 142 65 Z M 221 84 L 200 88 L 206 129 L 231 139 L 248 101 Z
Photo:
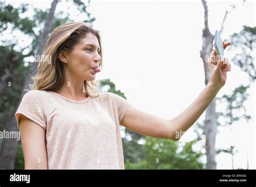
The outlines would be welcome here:
M 94 34 L 99 42 L 102 57 L 102 45 L 99 31 L 93 29 L 84 22 L 72 22 L 58 26 L 51 33 L 45 44 L 42 58 L 39 62 L 36 75 L 32 78 L 33 84 L 29 84 L 30 90 L 56 91 L 64 84 L 63 62 L 58 59 L 61 50 L 72 51 L 79 39 L 85 38 L 87 33 Z M 50 60 L 49 60 L 50 59 Z M 100 61 L 99 68 L 103 63 Z M 99 95 L 99 81 L 84 81 L 83 91 L 87 96 L 97 97 Z

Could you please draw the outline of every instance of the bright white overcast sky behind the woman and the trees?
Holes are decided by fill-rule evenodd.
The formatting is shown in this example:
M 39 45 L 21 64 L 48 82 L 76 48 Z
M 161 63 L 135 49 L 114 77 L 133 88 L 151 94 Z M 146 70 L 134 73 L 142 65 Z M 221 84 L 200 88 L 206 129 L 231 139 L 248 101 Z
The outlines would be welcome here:
M 32 4 L 49 8 L 51 1 Z M 239 32 L 242 25 L 255 26 L 255 2 L 208 1 L 209 27 L 213 34 L 220 29 L 230 4 L 237 8 L 227 16 L 221 35 L 223 40 Z M 75 21 L 85 19 L 77 15 L 70 3 L 59 3 L 56 11 L 68 7 Z M 97 79 L 110 78 L 133 106 L 171 119 L 185 110 L 204 89 L 204 69 L 199 53 L 204 9 L 200 1 L 91 1 L 88 11 L 97 19 L 93 27 L 101 32 L 103 41 L 104 66 Z M 225 52 L 225 56 L 232 59 L 231 52 Z M 247 75 L 232 64 L 226 85 L 217 97 L 231 93 L 247 81 Z M 233 124 L 232 133 L 230 128 L 219 128 L 217 134 L 216 148 L 235 145 L 238 149 L 234 156 L 235 169 L 247 168 L 247 153 L 249 167 L 255 169 L 255 84 L 249 93 L 251 97 L 245 106 L 253 120 Z M 203 121 L 204 116 L 205 113 L 198 121 Z M 190 128 L 180 141 L 193 138 Z M 230 154 L 219 154 L 216 159 L 217 169 L 232 169 Z

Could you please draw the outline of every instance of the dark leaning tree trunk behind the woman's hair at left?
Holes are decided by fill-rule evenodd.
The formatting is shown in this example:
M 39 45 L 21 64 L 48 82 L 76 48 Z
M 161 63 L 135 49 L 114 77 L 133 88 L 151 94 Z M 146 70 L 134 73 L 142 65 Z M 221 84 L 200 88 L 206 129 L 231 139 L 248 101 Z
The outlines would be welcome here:
M 46 41 L 48 40 L 48 38 L 49 38 L 48 34 L 51 31 L 52 21 L 54 19 L 54 12 L 55 12 L 57 4 L 58 4 L 58 0 L 53 0 L 53 2 L 51 3 L 50 12 L 45 20 L 44 31 L 39 39 L 37 55 L 43 54 L 44 45 L 45 45 Z M 29 70 L 29 74 L 26 77 L 26 81 L 23 86 L 24 89 L 26 88 L 26 86 L 28 85 L 28 83 L 31 80 L 30 75 L 33 76 L 33 74 L 35 74 L 37 66 L 38 66 L 37 62 L 32 63 L 30 70 Z M 17 132 L 18 131 L 17 122 L 16 122 L 16 118 L 15 118 L 15 112 L 17 111 L 19 103 L 21 102 L 21 99 L 23 98 L 24 94 L 25 94 L 25 92 L 22 91 L 18 105 L 16 106 L 16 110 L 12 114 L 11 119 L 4 126 L 5 131 L 8 131 L 8 132 L 10 132 L 10 131 Z M 17 146 L 18 146 L 18 141 L 16 139 L 4 139 L 3 145 L 2 145 L 2 150 L 1 150 L 1 155 L 0 155 L 0 168 L 1 169 L 14 169 Z

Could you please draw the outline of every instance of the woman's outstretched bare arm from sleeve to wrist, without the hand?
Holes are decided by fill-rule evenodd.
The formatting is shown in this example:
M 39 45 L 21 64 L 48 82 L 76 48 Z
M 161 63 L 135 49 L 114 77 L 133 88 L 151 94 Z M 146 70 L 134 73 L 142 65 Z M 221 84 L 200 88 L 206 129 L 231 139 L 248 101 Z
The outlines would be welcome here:
M 130 105 L 125 113 L 122 125 L 126 128 L 153 138 L 177 141 L 206 110 L 220 88 L 208 84 L 194 102 L 177 117 L 165 120 L 145 113 Z M 177 133 L 182 132 L 179 136 Z

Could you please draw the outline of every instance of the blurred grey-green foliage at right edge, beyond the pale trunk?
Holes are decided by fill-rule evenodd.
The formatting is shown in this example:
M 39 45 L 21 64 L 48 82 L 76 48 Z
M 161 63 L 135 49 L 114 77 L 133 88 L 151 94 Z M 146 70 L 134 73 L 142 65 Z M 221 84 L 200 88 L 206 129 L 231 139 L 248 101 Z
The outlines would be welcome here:
M 230 128 L 231 132 L 232 126 L 236 121 L 245 120 L 248 123 L 248 121 L 252 119 L 251 116 L 246 113 L 244 103 L 249 96 L 247 90 L 255 80 L 255 68 L 253 61 L 253 51 L 255 51 L 256 47 L 255 39 L 256 27 L 243 26 L 243 29 L 239 33 L 234 33 L 231 35 L 232 46 L 230 51 L 235 51 L 235 55 L 232 61 L 234 64 L 239 66 L 244 73 L 248 75 L 247 85 L 239 85 L 230 95 L 225 94 L 223 97 L 217 98 L 217 102 L 226 103 L 226 110 L 224 112 L 217 113 L 218 126 L 226 126 Z M 224 123 L 221 123 L 221 118 L 226 119 Z M 231 145 L 227 149 L 217 150 L 217 153 L 231 154 L 233 169 L 233 156 L 237 152 L 238 150 L 235 149 L 234 145 Z

